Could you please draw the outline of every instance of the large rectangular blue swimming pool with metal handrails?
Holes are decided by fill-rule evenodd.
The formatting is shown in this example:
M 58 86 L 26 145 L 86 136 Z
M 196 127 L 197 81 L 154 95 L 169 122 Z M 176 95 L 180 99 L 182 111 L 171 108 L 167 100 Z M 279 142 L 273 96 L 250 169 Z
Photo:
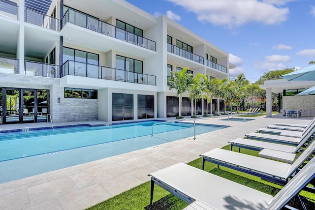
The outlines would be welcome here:
M 155 125 L 151 136 L 158 122 L 0 133 L 0 183 L 193 136 L 193 124 L 185 122 Z M 222 128 L 196 124 L 196 135 Z

